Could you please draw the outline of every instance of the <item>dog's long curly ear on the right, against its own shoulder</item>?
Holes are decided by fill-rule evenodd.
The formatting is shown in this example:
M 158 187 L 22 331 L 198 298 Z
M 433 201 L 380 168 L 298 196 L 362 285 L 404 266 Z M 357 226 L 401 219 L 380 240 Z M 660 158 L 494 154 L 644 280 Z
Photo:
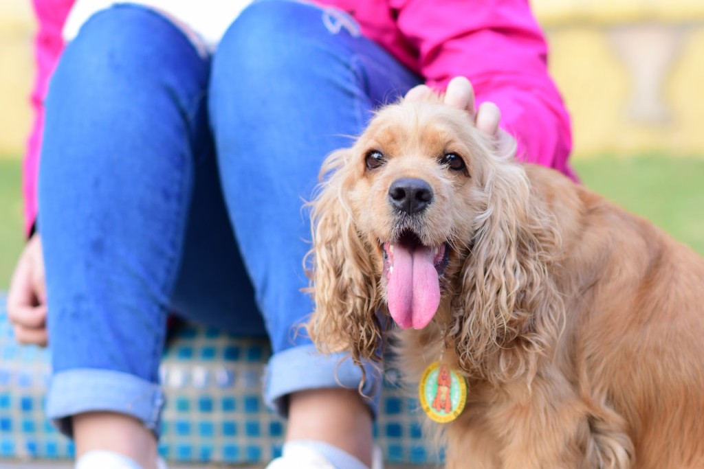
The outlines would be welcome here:
M 531 197 L 524 169 L 489 154 L 480 181 L 484 210 L 463 265 L 451 336 L 467 370 L 515 352 L 491 367 L 488 378 L 505 379 L 534 372 L 536 355 L 549 353 L 560 334 L 564 306 L 548 275 L 560 237 L 543 201 Z

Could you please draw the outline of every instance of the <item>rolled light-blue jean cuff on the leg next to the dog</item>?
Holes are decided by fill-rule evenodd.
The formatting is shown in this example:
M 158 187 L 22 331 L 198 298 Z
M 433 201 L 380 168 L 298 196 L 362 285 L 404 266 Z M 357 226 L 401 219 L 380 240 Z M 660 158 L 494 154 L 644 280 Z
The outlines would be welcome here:
M 379 366 L 365 363 L 365 382 L 360 396 L 377 416 L 382 390 Z M 274 354 L 264 375 L 264 401 L 280 416 L 287 418 L 291 392 L 343 387 L 358 390 L 362 370 L 346 353 L 323 355 L 315 345 L 301 345 Z

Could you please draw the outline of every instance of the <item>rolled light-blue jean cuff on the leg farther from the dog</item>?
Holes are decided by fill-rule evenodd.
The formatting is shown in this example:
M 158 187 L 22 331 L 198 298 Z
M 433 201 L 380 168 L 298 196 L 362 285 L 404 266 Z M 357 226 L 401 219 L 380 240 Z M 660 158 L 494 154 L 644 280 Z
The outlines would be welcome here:
M 64 435 L 73 436 L 71 416 L 115 412 L 137 418 L 159 437 L 165 398 L 161 386 L 120 371 L 76 368 L 51 378 L 46 414 Z

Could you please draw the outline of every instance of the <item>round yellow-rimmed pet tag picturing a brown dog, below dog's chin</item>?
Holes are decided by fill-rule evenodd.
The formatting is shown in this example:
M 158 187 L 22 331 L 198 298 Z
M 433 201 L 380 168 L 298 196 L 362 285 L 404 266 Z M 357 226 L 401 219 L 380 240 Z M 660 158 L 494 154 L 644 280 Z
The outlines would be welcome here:
M 467 404 L 467 382 L 439 361 L 427 368 L 418 385 L 420 406 L 436 422 L 448 423 L 458 418 Z

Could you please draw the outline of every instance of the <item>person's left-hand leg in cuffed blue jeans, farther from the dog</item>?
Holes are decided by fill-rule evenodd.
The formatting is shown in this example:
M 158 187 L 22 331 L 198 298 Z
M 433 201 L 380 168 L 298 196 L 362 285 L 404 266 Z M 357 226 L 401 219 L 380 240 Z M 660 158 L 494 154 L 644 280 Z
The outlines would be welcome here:
M 77 456 L 156 464 L 158 364 L 194 155 L 211 145 L 209 60 L 156 13 L 96 14 L 51 82 L 39 180 L 54 375 Z

